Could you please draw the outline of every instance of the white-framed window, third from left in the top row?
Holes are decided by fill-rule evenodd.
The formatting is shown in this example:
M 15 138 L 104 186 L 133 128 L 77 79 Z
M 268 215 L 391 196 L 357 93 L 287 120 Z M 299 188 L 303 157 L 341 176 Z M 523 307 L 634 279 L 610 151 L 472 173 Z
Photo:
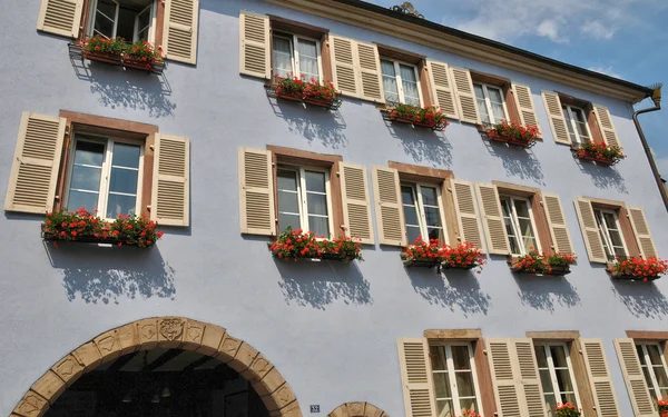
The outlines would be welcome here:
M 381 60 L 385 100 L 411 106 L 422 106 L 418 68 L 411 63 Z

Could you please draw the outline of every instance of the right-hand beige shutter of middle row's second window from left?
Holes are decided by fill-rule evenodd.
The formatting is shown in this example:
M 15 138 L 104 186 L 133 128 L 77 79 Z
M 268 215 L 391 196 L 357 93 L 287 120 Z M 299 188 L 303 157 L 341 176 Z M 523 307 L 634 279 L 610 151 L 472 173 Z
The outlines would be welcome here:
M 372 245 L 374 239 L 366 169 L 344 162 L 338 163 L 338 169 L 345 236 L 358 237 L 363 244 Z

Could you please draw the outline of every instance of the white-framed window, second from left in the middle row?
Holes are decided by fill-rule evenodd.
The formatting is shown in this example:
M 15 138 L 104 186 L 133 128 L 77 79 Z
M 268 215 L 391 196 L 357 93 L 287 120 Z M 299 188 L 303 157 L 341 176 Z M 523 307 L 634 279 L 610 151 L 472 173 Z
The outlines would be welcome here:
M 278 166 L 278 230 L 313 231 L 332 236 L 330 173 L 317 168 Z

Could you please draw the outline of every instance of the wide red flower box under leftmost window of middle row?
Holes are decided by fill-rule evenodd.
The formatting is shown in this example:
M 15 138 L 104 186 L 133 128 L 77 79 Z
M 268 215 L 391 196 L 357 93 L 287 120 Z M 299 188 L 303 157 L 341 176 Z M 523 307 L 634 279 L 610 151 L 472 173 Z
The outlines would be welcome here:
M 97 210 L 90 214 L 81 207 L 77 211 L 48 212 L 43 232 L 48 240 L 87 240 L 148 248 L 163 237 L 164 232 L 156 231 L 156 227 L 155 221 L 135 215 L 119 215 L 115 221 L 106 222 L 97 217 Z

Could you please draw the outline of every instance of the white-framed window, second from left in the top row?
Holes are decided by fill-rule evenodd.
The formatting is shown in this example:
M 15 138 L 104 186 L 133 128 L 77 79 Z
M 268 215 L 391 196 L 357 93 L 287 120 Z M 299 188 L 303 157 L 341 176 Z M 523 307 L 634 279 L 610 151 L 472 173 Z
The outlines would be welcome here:
M 274 73 L 322 80 L 320 41 L 285 33 L 273 38 Z

